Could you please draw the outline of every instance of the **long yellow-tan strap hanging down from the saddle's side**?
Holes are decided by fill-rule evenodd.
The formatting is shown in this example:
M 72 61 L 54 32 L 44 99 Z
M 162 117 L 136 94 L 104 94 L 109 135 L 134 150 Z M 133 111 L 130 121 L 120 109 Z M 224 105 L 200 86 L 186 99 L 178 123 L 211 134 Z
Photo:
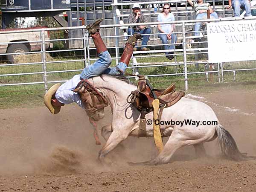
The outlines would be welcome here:
M 158 111 L 159 111 L 159 100 L 154 99 L 152 102 L 152 106 L 154 108 L 153 111 L 153 134 L 154 134 L 154 142 L 157 147 L 157 151 L 160 153 L 163 151 L 163 142 L 160 132 L 160 126 L 155 124 L 155 120 L 158 118 Z

